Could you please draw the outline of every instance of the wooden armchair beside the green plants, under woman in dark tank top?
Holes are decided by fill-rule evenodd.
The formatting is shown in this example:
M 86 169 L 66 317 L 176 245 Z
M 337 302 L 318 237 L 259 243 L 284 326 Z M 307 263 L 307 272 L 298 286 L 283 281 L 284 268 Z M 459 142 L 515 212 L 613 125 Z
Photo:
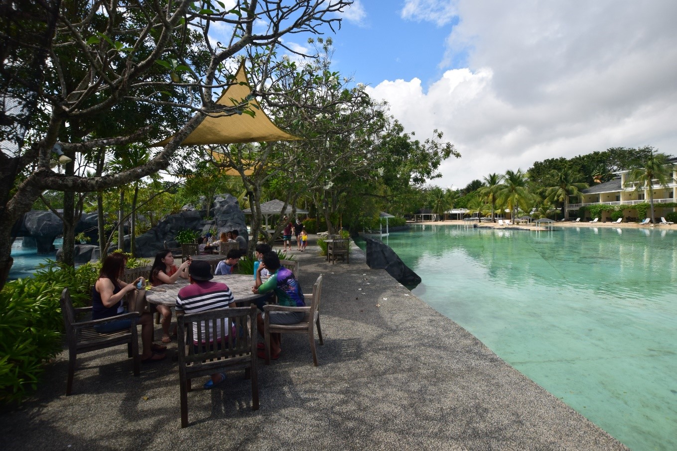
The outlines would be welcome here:
M 141 356 L 139 356 L 139 343 L 137 339 L 137 312 L 125 313 L 114 318 L 98 319 L 93 321 L 77 321 L 78 314 L 91 312 L 91 307 L 73 308 L 68 288 L 61 293 L 61 313 L 64 316 L 66 327 L 66 341 L 68 342 L 68 382 L 66 383 L 66 396 L 70 395 L 73 387 L 75 374 L 75 361 L 78 354 L 85 352 L 111 348 L 112 346 L 127 345 L 127 355 L 133 358 L 134 375 L 139 375 Z M 114 320 L 130 319 L 131 327 L 122 331 L 111 333 L 98 333 L 94 325 L 105 324 Z

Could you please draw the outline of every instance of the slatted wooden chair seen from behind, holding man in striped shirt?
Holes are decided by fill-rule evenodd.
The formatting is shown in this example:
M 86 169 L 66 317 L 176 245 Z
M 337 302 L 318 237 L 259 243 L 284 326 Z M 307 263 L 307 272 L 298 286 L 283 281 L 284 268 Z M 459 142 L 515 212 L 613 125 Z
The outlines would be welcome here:
M 244 369 L 245 379 L 251 379 L 252 384 L 252 410 L 259 409 L 257 312 L 257 307 L 252 304 L 249 307 L 219 308 L 177 315 L 179 343 L 188 343 L 186 346 L 179 346 L 181 427 L 188 426 L 188 391 L 191 391 L 190 381 L 194 377 Z M 235 336 L 228 333 L 232 331 L 233 323 Z M 217 324 L 220 325 L 219 328 Z M 196 326 L 196 333 L 193 325 Z M 220 329 L 220 333 L 217 329 Z M 219 344 L 193 345 L 210 341 Z

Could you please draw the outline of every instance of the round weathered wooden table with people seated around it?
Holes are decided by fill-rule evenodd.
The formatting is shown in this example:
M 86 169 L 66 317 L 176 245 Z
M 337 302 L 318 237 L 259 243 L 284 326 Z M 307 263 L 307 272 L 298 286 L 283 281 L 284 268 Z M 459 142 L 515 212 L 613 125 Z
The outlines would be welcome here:
M 225 285 L 228 285 L 238 305 L 248 306 L 249 304 L 256 304 L 257 300 L 267 297 L 267 294 L 252 293 L 254 279 L 250 275 L 214 276 L 211 281 L 223 282 Z M 188 286 L 188 281 L 186 279 L 178 279 L 175 283 L 165 283 L 146 289 L 146 300 L 151 304 L 173 307 L 176 305 L 176 297 L 179 294 L 179 290 L 185 286 Z

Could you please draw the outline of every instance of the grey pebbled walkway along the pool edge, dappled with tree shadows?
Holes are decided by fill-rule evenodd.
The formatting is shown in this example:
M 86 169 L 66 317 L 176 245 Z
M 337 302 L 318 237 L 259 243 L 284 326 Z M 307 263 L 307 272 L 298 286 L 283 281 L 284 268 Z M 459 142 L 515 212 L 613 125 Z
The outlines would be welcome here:
M 309 238 L 292 254 L 307 293 L 324 274 L 320 366 L 305 336 L 285 335 L 279 360 L 259 360 L 259 410 L 232 372 L 222 387 L 188 394 L 191 425 L 181 429 L 176 363 L 143 366 L 136 378 L 125 347 L 79 356 L 66 397 L 62 353 L 34 398 L 0 414 L 0 449 L 627 449 L 368 268 L 354 245 L 350 264 L 332 265 Z

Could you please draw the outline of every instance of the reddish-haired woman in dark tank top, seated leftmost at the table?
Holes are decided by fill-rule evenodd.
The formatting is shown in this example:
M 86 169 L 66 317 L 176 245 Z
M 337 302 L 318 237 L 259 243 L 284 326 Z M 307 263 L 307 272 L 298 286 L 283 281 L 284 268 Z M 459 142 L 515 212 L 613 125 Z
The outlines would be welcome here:
M 125 295 L 135 289 L 139 282 L 143 283 L 144 278 L 139 277 L 133 283 L 125 283 L 121 279 L 125 272 L 127 257 L 121 252 L 113 252 L 106 257 L 99 271 L 99 279 L 91 289 L 91 318 L 93 320 L 103 318 L 113 318 L 125 313 L 123 308 L 123 299 Z M 157 362 L 165 358 L 167 346 L 159 346 L 153 341 L 153 316 L 150 313 L 142 313 L 139 317 L 141 325 L 141 361 L 144 363 Z M 94 329 L 99 333 L 111 333 L 121 331 L 131 327 L 131 320 L 123 319 L 110 321 L 106 324 L 95 325 Z

